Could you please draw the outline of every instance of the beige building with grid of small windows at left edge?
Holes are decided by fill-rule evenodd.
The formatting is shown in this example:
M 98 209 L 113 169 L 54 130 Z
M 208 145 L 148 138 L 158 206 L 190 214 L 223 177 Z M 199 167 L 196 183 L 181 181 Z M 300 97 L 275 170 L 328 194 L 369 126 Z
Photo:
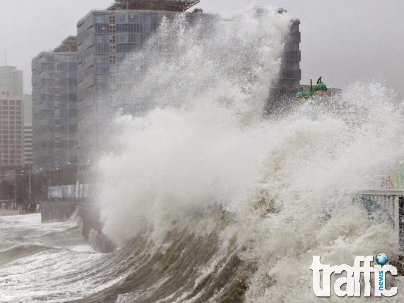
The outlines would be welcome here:
M 22 95 L 0 91 L 0 166 L 2 170 L 24 165 Z

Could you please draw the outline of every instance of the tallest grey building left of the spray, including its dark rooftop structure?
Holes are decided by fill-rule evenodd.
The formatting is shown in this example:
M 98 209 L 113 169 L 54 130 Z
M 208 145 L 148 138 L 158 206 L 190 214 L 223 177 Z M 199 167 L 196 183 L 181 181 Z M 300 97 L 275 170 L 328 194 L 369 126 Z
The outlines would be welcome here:
M 125 56 L 140 49 L 156 33 L 163 17 L 174 18 L 198 3 L 199 0 L 122 0 L 108 10 L 91 11 L 77 23 L 78 138 L 82 163 L 108 149 L 103 135 L 108 127 L 108 113 L 104 110 L 113 102 L 109 93 L 133 85 L 126 74 L 114 74 L 121 70 Z M 187 14 L 190 19 L 195 16 Z

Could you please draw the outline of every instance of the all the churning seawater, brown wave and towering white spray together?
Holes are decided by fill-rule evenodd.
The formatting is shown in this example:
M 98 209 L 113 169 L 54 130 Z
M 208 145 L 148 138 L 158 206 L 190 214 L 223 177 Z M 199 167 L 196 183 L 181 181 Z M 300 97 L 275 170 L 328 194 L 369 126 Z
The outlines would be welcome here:
M 362 81 L 264 118 L 288 17 L 211 22 L 164 22 L 123 67 L 136 85 L 119 98 L 141 112 L 111 121 L 117 149 L 96 165 L 104 233 L 119 248 L 96 254 L 74 218 L 2 217 L 3 301 L 321 301 L 314 255 L 353 265 L 397 254 L 388 222 L 352 202 L 402 159 L 394 94 Z

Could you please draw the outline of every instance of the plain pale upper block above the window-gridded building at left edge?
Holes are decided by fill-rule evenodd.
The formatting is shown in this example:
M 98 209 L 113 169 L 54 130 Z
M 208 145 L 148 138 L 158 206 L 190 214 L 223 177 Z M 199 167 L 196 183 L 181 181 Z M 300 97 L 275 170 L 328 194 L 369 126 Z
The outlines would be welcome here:
M 22 96 L 23 72 L 13 66 L 0 66 L 0 90 L 9 96 Z

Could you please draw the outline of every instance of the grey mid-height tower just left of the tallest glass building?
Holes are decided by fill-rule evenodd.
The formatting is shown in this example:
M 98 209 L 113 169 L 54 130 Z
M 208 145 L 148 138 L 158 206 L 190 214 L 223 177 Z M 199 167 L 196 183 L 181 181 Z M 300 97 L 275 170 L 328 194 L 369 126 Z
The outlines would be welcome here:
M 77 162 L 77 44 L 69 36 L 32 60 L 33 168 Z

